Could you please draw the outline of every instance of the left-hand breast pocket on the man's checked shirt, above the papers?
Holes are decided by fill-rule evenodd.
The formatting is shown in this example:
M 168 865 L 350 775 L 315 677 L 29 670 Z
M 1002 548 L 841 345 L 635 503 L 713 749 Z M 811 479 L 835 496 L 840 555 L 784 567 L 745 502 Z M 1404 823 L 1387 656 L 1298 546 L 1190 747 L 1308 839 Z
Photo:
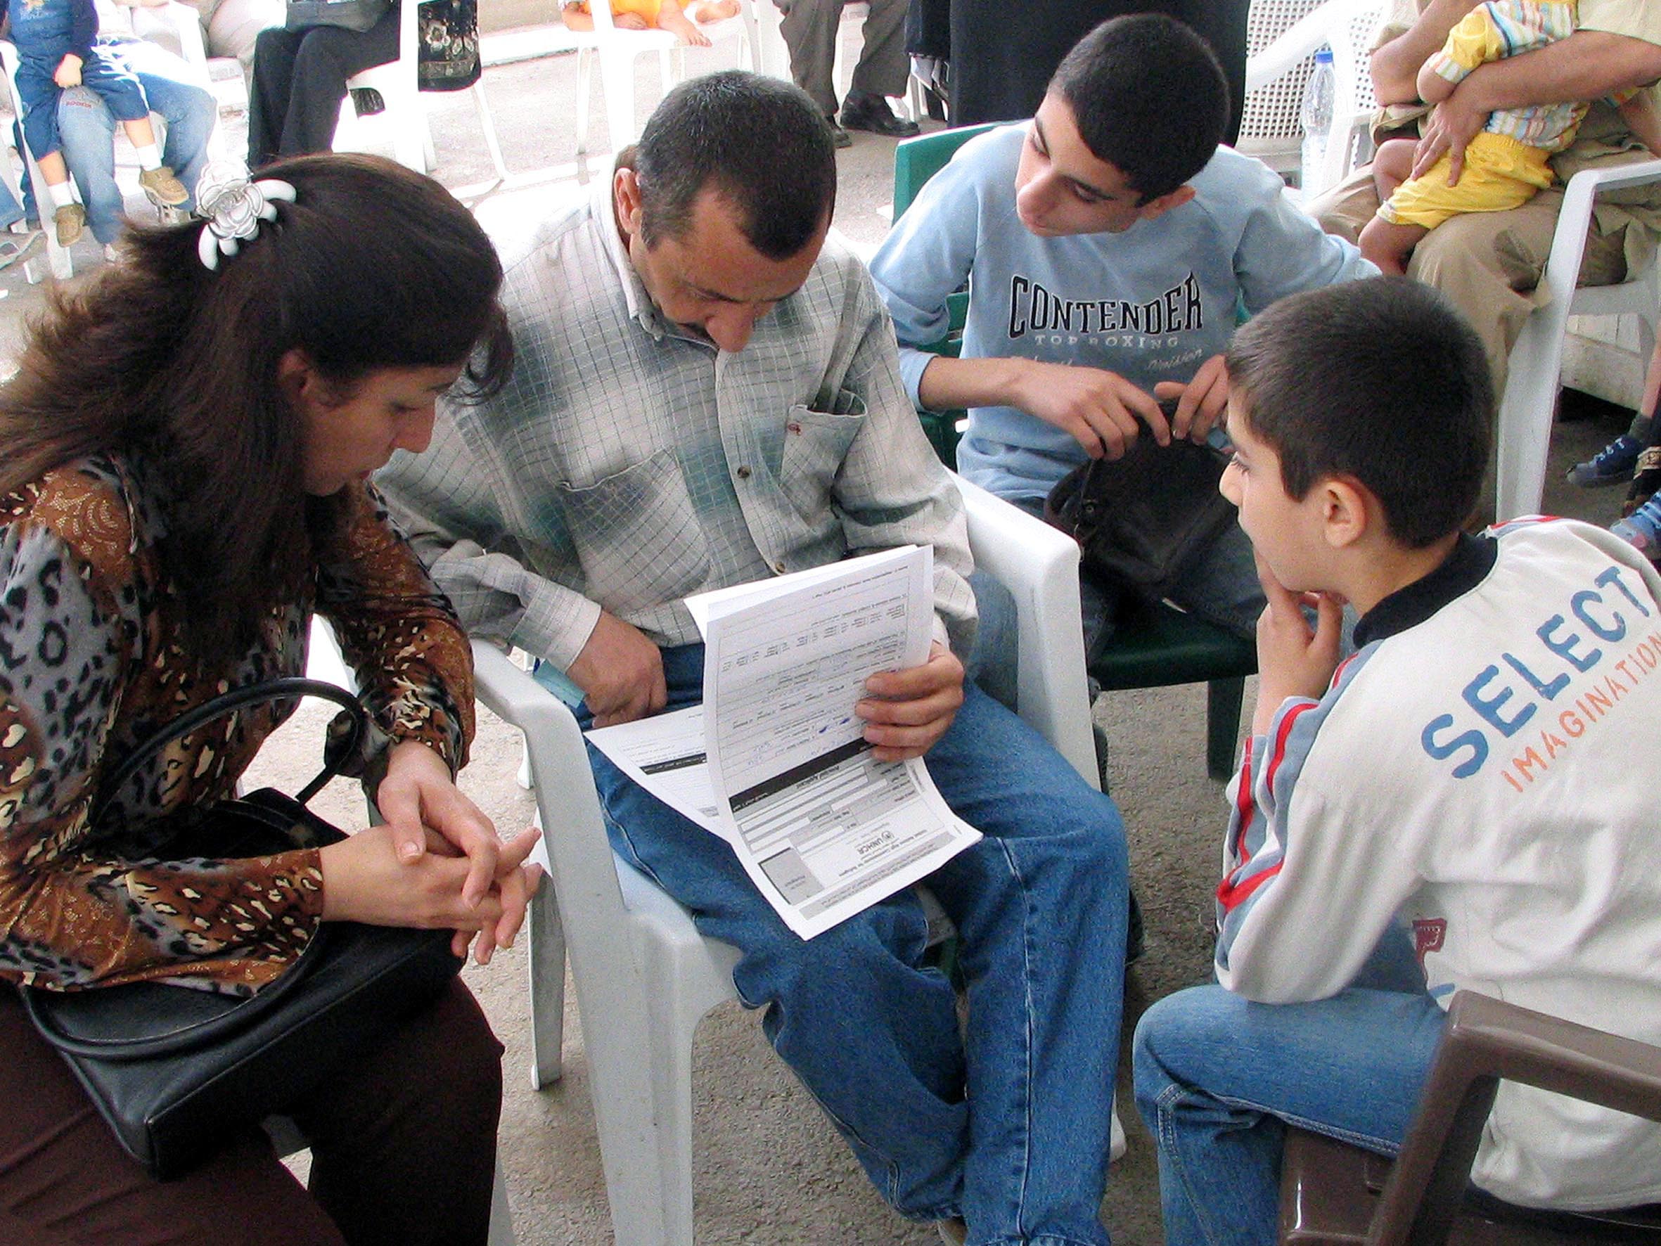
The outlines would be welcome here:
M 606 610 L 646 610 L 704 586 L 709 548 L 674 450 L 560 492 L 588 596 Z

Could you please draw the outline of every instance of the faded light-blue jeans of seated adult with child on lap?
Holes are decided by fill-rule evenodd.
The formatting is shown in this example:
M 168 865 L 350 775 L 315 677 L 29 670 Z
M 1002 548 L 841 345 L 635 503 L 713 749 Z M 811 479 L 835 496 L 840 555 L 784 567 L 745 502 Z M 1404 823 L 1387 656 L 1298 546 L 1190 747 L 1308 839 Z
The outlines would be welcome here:
M 168 123 L 161 159 L 191 193 L 183 211 L 193 211 L 196 181 L 208 164 L 208 138 L 219 118 L 219 105 L 213 91 L 186 80 L 189 66 L 166 48 L 136 40 L 123 40 L 115 47 L 145 86 L 149 111 Z M 113 243 L 121 236 L 121 216 L 126 211 L 121 188 L 115 181 L 115 126 L 105 101 L 85 88 L 70 88 L 58 100 L 63 158 L 86 204 L 86 223 L 100 243 Z

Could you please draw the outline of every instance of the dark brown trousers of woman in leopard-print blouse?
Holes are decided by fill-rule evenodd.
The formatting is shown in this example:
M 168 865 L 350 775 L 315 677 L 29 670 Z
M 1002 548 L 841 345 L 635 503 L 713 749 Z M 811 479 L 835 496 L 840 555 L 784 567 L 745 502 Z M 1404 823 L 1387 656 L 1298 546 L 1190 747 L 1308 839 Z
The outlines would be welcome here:
M 460 982 L 291 1113 L 301 1188 L 257 1126 L 178 1181 L 154 1181 L 0 985 L 0 1241 L 8 1246 L 483 1244 L 502 1045 Z

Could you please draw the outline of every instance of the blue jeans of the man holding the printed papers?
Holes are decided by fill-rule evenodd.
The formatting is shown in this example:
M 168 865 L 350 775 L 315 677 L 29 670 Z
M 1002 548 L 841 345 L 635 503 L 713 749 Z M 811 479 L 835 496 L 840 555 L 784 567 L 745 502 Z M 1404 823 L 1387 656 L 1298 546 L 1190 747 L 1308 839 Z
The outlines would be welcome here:
M 701 645 L 663 666 L 671 709 L 701 698 Z M 593 748 L 590 764 L 613 847 L 741 949 L 739 997 L 766 1008 L 767 1038 L 889 1203 L 963 1216 L 977 1246 L 1105 1246 L 1124 827 L 1031 728 L 973 684 L 965 698 L 928 773 L 985 839 L 927 885 L 962 939 L 967 1037 L 952 984 L 924 964 L 914 890 L 804 942 L 721 839 Z

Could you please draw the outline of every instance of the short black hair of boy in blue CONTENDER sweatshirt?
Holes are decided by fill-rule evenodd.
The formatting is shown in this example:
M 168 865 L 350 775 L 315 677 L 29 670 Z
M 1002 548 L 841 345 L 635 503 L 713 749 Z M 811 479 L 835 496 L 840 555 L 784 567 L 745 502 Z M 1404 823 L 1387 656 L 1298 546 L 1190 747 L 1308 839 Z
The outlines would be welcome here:
M 1103 22 L 1056 68 L 1050 91 L 1073 110 L 1096 159 L 1143 203 L 1206 168 L 1229 121 L 1229 85 L 1206 42 L 1161 13 Z

